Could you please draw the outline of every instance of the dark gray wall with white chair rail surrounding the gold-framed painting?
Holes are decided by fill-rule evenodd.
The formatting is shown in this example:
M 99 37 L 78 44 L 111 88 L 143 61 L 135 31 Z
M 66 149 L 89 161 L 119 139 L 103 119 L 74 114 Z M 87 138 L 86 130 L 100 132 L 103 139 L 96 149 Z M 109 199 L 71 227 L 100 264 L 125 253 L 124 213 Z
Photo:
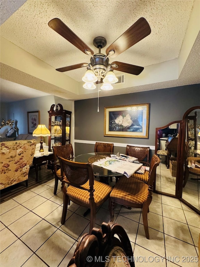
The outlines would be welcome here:
M 150 103 L 148 139 L 104 136 L 104 107 L 142 103 Z M 99 112 L 97 98 L 74 101 L 75 155 L 93 152 L 96 141 L 114 143 L 114 152 L 121 153 L 125 153 L 127 144 L 150 146 L 153 154 L 156 127 L 182 120 L 184 113 L 197 105 L 200 105 L 199 84 L 100 97 Z

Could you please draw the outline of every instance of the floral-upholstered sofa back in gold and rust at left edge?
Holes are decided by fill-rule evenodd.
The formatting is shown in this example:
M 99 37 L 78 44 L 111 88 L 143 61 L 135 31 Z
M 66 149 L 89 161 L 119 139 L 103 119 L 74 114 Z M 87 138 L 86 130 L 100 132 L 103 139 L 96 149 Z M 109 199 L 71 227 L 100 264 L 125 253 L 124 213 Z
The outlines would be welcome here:
M 0 143 L 0 189 L 22 181 L 28 186 L 36 140 L 15 140 Z

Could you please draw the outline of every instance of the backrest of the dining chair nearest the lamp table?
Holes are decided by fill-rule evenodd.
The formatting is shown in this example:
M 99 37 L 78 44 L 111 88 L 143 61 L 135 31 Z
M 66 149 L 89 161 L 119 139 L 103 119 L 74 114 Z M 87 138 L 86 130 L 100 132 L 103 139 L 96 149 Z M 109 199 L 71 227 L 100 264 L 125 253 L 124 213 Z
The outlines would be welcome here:
M 72 144 L 63 146 L 52 146 L 52 147 L 53 147 L 54 161 L 56 161 L 58 157 L 63 157 L 65 159 L 74 157 Z

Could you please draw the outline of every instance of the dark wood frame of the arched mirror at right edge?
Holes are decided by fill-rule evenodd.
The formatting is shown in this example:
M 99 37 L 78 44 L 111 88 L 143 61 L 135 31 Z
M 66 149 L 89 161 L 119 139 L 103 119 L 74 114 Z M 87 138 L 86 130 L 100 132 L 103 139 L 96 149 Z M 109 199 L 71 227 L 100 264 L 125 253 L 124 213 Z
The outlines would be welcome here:
M 187 127 L 187 116 L 193 111 L 193 110 L 197 110 L 200 109 L 200 106 L 194 106 L 190 109 L 188 109 L 185 114 L 183 115 L 183 120 L 182 120 L 182 129 L 181 129 L 181 135 L 179 135 L 181 137 L 181 141 L 178 142 L 178 155 L 181 155 L 181 153 L 183 153 L 183 147 L 185 144 L 185 139 L 186 139 L 186 127 Z M 182 193 L 183 193 L 183 174 L 184 174 L 184 159 L 183 157 L 179 158 L 179 164 L 177 166 L 177 177 L 179 177 L 178 179 L 178 199 L 183 202 L 186 206 L 188 206 L 189 208 L 191 208 L 193 211 L 195 211 L 196 213 L 198 213 L 200 215 L 200 211 L 195 208 L 194 206 L 192 206 L 192 204 L 188 203 L 186 200 L 184 200 L 182 198 Z M 181 179 L 182 177 L 182 179 Z

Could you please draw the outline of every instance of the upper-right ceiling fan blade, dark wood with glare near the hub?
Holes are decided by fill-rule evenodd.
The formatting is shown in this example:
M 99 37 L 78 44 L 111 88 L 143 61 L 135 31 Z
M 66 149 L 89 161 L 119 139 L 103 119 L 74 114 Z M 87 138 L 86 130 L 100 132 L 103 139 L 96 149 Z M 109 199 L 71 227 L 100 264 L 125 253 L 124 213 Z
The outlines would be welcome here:
M 108 46 L 106 54 L 108 55 L 110 50 L 114 50 L 115 54 L 110 57 L 116 57 L 126 49 L 130 48 L 134 44 L 141 41 L 143 38 L 151 33 L 149 23 L 145 18 L 139 18 L 128 30 L 126 30 L 113 44 Z

